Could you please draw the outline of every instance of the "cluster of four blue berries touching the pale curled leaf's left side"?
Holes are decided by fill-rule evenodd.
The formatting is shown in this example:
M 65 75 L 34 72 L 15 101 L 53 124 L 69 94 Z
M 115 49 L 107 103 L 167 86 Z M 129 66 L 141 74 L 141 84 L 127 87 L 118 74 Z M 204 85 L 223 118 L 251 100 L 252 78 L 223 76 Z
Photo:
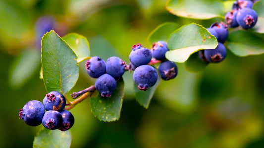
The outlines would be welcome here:
M 129 55 L 131 62 L 129 67 L 135 70 L 133 79 L 140 90 L 146 91 L 156 83 L 158 78 L 156 69 L 147 65 L 148 63 L 161 62 L 158 66 L 158 71 L 163 80 L 170 80 L 177 76 L 177 65 L 172 61 L 168 61 L 165 57 L 168 50 L 167 43 L 164 41 L 153 43 L 151 50 L 142 47 L 141 44 L 132 46 L 132 51 Z M 154 58 L 153 60 L 152 57 Z

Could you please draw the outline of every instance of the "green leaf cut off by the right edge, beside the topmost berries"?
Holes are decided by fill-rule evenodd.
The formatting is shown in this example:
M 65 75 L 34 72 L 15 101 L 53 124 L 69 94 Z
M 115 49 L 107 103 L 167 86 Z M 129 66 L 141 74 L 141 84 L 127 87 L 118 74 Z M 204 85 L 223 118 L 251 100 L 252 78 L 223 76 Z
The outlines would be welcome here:
M 255 32 L 264 33 L 264 0 L 260 0 L 253 5 L 253 9 L 258 14 L 258 21 L 252 28 Z

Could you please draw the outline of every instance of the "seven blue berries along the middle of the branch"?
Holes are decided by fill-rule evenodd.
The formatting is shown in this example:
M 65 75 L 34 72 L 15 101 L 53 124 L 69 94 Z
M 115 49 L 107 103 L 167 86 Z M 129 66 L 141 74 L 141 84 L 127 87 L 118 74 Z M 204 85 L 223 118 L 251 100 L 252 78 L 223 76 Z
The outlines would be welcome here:
M 87 60 L 85 67 L 88 75 L 92 78 L 98 78 L 95 82 L 95 88 L 101 93 L 102 97 L 111 97 L 116 88 L 116 80 L 121 78 L 125 71 L 134 70 L 133 79 L 140 90 L 146 91 L 152 87 L 157 79 L 158 73 L 149 63 L 159 63 L 158 67 L 161 78 L 170 80 L 177 76 L 178 68 L 174 62 L 167 61 L 165 53 L 169 49 L 167 43 L 158 41 L 153 43 L 150 49 L 142 47 L 141 44 L 133 45 L 129 55 L 130 64 L 113 56 L 105 62 L 103 59 L 94 56 Z M 154 59 L 152 59 L 152 57 Z

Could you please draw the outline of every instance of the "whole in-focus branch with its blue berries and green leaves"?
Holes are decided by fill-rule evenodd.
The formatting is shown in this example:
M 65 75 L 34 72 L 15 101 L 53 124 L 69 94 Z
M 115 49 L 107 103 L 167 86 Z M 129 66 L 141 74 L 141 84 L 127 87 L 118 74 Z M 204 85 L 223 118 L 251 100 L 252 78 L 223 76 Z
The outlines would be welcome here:
M 212 1 L 212 3 L 217 4 L 219 1 Z M 199 72 L 209 63 L 222 62 L 227 55 L 226 46 L 238 55 L 240 52 L 237 54 L 237 49 L 232 48 L 230 44 L 236 39 L 231 37 L 236 34 L 255 35 L 261 31 L 256 27 L 257 31 L 254 30 L 254 26 L 260 26 L 257 22 L 258 14 L 252 9 L 254 3 L 256 1 L 237 0 L 230 5 L 230 8 L 232 7 L 230 12 L 218 10 L 220 14 L 207 15 L 206 13 L 210 12 L 200 14 L 197 13 L 199 11 L 193 12 L 192 9 L 186 13 L 180 9 L 183 12 L 177 13 L 179 12 L 178 5 L 184 5 L 184 3 L 168 0 L 167 10 L 177 16 L 192 19 L 220 17 L 224 18 L 225 22 L 215 22 L 207 26 L 208 28 L 196 23 L 182 27 L 173 22 L 161 24 L 150 33 L 147 39 L 149 45 L 143 46 L 140 43 L 132 45 L 131 52 L 127 55 L 129 62 L 117 56 L 108 59 L 100 58 L 101 55 L 90 57 L 89 43 L 85 37 L 71 33 L 61 38 L 54 30 L 51 30 L 43 36 L 41 48 L 41 74 L 49 93 L 45 95 L 43 104 L 36 100 L 26 103 L 23 109 L 20 109 L 19 118 L 30 126 L 42 123 L 47 129 L 58 129 L 64 132 L 72 128 L 75 122 L 69 110 L 84 99 L 90 98 L 91 109 L 95 117 L 101 121 L 116 121 L 120 118 L 122 108 L 125 72 L 133 73 L 130 76 L 134 80 L 135 98 L 140 105 L 148 108 L 161 79 L 162 81 L 177 81 L 176 63 L 185 63 L 188 71 Z M 197 2 L 193 3 L 195 4 Z M 247 43 L 246 40 L 244 42 Z M 243 53 L 245 54 L 243 56 L 247 56 L 264 52 Z M 96 79 L 95 85 L 70 94 L 79 78 L 79 64 L 85 66 L 87 77 Z M 70 101 L 67 94 L 75 100 Z

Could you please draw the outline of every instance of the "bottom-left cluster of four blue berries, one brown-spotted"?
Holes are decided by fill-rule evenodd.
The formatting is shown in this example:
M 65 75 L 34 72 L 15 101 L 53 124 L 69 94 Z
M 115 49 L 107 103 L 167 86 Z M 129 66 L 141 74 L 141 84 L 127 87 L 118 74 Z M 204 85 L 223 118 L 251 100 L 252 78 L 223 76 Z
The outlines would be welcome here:
M 27 102 L 23 109 L 20 109 L 19 118 L 30 126 L 42 123 L 50 130 L 66 131 L 73 126 L 74 117 L 71 112 L 64 110 L 65 105 L 65 97 L 61 93 L 53 91 L 46 94 L 43 104 L 37 100 Z

